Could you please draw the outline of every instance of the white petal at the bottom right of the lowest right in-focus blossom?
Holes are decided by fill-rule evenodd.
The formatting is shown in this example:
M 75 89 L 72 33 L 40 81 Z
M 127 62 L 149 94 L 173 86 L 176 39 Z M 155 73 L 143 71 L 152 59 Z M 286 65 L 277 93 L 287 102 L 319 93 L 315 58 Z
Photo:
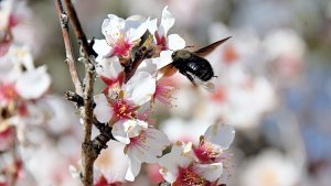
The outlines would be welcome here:
M 223 174 L 223 163 L 194 164 L 195 171 L 210 182 L 215 182 Z

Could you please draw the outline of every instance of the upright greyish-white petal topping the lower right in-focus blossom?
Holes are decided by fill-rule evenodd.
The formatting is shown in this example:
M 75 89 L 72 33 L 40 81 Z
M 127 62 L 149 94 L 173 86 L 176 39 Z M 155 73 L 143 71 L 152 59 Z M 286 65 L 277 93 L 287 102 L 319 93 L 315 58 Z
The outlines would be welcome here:
M 235 130 L 232 125 L 216 123 L 210 125 L 204 133 L 205 141 L 220 145 L 223 150 L 229 147 L 235 138 Z

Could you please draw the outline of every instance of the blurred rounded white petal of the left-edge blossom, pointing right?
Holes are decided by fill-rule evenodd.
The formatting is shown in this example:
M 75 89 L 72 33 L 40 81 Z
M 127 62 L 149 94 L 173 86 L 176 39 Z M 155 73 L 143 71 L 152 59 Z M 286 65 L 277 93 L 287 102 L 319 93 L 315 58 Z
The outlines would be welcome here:
M 46 73 L 46 67 L 41 66 L 22 74 L 17 80 L 17 90 L 25 99 L 36 99 L 41 97 L 51 86 L 51 76 Z

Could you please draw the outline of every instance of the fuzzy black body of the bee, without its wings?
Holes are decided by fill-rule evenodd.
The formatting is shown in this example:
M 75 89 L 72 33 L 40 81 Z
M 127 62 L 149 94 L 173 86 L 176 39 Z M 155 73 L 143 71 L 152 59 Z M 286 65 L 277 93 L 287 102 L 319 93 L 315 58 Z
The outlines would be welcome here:
M 182 75 L 186 76 L 193 85 L 195 85 L 194 77 L 202 81 L 207 81 L 214 77 L 214 72 L 209 61 L 185 50 L 172 53 L 172 65 Z

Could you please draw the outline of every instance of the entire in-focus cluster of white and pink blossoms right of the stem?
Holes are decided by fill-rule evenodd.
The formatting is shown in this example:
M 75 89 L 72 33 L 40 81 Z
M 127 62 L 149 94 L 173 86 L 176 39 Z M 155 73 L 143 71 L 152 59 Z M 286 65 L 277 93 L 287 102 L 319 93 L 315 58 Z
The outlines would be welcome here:
M 173 24 L 167 7 L 159 25 L 157 19 L 134 15 L 124 20 L 108 14 L 102 26 L 105 40 L 95 40 L 94 44 L 98 54 L 96 72 L 106 84 L 94 97 L 94 116 L 111 125 L 114 138 L 125 145 L 127 180 L 135 179 L 141 163 L 159 163 L 163 178 L 173 185 L 220 185 L 227 160 L 223 151 L 234 139 L 232 127 L 211 125 L 199 144 L 178 141 L 164 155 L 171 143 L 149 119 L 156 100 L 171 106 L 174 87 L 166 83 L 160 69 L 172 62 L 173 51 L 185 47 L 178 34 L 168 35 Z M 127 67 L 131 72 L 136 64 L 134 74 L 128 74 Z M 98 183 L 105 177 L 102 175 Z

